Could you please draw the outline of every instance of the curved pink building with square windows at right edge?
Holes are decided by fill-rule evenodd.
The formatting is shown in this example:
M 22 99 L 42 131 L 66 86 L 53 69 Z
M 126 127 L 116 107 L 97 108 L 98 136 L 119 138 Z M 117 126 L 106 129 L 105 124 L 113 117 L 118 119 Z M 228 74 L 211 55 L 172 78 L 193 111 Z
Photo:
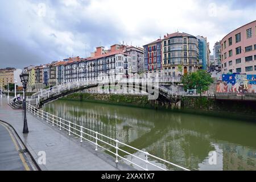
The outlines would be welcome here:
M 221 70 L 223 74 L 256 74 L 256 20 L 221 40 Z

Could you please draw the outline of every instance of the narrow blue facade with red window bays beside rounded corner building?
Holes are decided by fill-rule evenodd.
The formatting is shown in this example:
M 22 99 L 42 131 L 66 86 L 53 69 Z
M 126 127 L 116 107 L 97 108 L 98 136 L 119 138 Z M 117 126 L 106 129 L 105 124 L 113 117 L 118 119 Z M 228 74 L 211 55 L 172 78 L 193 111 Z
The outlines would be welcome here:
M 144 48 L 144 72 L 146 76 L 162 75 L 162 39 L 151 42 Z

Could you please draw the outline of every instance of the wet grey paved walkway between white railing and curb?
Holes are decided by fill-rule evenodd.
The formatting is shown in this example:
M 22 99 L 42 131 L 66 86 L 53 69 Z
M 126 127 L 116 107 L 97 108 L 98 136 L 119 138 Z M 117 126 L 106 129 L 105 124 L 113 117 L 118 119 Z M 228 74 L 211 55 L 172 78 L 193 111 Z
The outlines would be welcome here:
M 23 110 L 11 109 L 6 98 L 0 98 L 0 120 L 14 127 L 42 170 L 134 170 L 127 164 L 116 164 L 112 156 L 102 151 L 94 151 L 92 145 L 87 142 L 80 144 L 79 139 L 68 137 L 67 133 L 37 119 L 31 113 L 27 113 L 30 132 L 23 134 Z M 40 151 L 46 152 L 46 164 L 40 164 L 43 161 Z

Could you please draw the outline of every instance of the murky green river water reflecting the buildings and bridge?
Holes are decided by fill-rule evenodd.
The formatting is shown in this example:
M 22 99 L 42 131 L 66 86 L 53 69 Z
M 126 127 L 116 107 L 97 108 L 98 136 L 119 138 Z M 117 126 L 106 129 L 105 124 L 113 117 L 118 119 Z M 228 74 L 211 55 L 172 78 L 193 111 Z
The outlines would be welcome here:
M 256 123 L 89 102 L 55 101 L 44 110 L 189 169 L 256 170 Z

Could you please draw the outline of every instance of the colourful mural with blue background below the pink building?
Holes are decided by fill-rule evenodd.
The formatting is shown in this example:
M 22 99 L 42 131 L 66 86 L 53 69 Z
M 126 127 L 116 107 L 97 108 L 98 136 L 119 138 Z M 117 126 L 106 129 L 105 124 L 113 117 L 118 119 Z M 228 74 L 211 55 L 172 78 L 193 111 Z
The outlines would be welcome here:
M 222 75 L 217 92 L 256 93 L 256 75 Z

